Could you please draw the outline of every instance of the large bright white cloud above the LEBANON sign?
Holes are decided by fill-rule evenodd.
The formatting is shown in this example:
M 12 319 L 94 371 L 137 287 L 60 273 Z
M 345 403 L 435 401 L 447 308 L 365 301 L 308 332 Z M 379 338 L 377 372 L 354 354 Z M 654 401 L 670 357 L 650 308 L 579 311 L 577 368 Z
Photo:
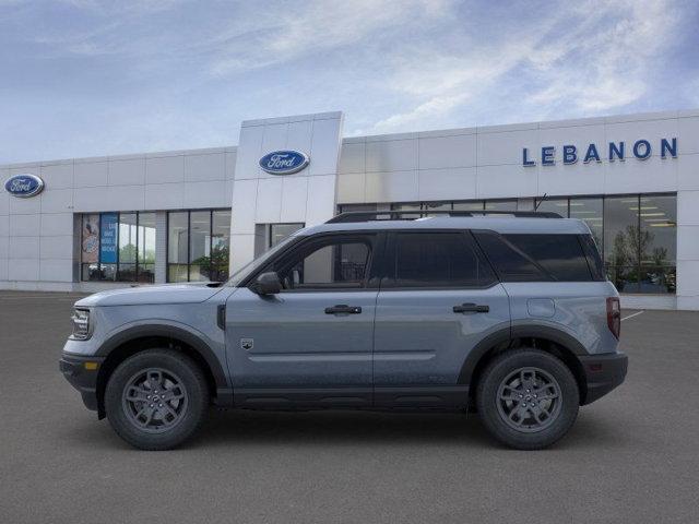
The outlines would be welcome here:
M 511 119 L 558 116 L 562 106 L 578 115 L 619 110 L 648 92 L 653 60 L 673 44 L 679 22 L 662 0 L 588 1 L 547 12 L 536 21 L 512 13 L 489 41 L 466 35 L 457 51 L 438 40 L 394 59 L 387 84 L 402 95 L 402 107 L 369 131 L 439 126 L 445 116 L 481 108 L 503 92 L 519 93 L 520 115 L 510 111 Z

